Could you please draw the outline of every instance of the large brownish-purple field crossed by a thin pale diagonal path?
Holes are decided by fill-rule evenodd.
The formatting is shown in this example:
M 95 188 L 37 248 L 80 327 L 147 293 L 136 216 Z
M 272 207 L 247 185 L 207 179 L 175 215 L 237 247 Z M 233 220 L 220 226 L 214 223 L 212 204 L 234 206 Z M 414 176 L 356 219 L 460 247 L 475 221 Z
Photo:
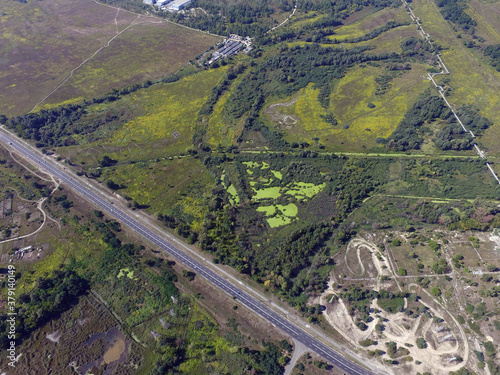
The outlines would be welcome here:
M 46 102 L 92 98 L 164 77 L 217 41 L 91 0 L 8 1 L 2 12 L 0 113 L 6 115 L 30 111 L 108 42 Z

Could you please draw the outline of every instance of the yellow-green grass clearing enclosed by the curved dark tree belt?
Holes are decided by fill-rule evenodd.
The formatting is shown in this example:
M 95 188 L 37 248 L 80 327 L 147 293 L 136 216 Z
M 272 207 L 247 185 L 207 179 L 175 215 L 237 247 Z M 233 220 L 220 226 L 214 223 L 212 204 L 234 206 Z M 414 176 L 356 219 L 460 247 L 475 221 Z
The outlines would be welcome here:
M 290 105 L 274 107 L 273 111 L 295 120 L 280 126 L 289 142 L 306 140 L 314 144 L 313 138 L 318 137 L 320 143 L 334 150 L 363 151 L 376 146 L 376 138 L 392 134 L 418 95 L 429 87 L 429 81 L 423 78 L 425 68 L 425 65 L 414 64 L 411 71 L 393 80 L 391 89 L 384 95 L 375 95 L 375 78 L 384 73 L 382 67 L 349 70 L 331 93 L 330 110 L 338 121 L 337 126 L 320 116 L 325 115 L 326 110 L 318 101 L 319 90 L 312 84 L 289 98 L 296 99 L 287 101 Z M 369 108 L 368 103 L 375 104 L 375 108 Z

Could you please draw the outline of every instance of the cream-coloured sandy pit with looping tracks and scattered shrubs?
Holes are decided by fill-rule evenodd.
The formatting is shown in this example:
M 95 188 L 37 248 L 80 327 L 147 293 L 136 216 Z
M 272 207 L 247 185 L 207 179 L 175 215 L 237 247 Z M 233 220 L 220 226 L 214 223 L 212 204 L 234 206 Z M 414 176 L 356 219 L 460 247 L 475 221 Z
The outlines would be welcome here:
M 344 254 L 344 260 L 347 261 L 349 252 L 355 252 L 356 257 L 350 254 L 350 259 L 356 259 L 357 264 L 348 264 L 346 267 L 355 277 L 362 277 L 363 284 L 366 288 L 374 290 L 384 289 L 384 283 L 392 283 L 394 281 L 380 281 L 380 276 L 394 277 L 394 267 L 392 267 L 390 260 L 377 248 L 376 244 L 370 241 L 370 238 L 355 238 L 353 239 Z M 363 252 L 365 252 L 363 256 Z M 367 256 L 366 252 L 371 256 Z M 445 375 L 450 371 L 456 371 L 463 367 L 468 359 L 468 342 L 462 327 L 450 316 L 444 308 L 434 308 L 422 301 L 424 306 L 428 307 L 432 316 L 441 317 L 444 321 L 437 323 L 433 319 L 421 314 L 418 318 L 407 316 L 404 312 L 391 314 L 383 311 L 378 305 L 377 300 L 373 300 L 371 304 L 372 309 L 381 310 L 375 314 L 372 312 L 370 316 L 373 318 L 369 322 L 368 329 L 361 331 L 356 325 L 355 320 L 349 315 L 346 304 L 342 299 L 330 303 L 332 294 L 338 296 L 338 289 L 333 288 L 335 281 L 342 283 L 342 279 L 337 280 L 338 275 L 335 275 L 328 284 L 328 288 L 323 295 L 319 297 L 316 303 L 326 306 L 324 316 L 326 320 L 353 346 L 367 352 L 368 350 L 380 349 L 384 352 L 387 350 L 386 342 L 393 341 L 399 347 L 408 349 L 409 354 L 394 358 L 398 361 L 399 365 L 386 365 L 382 363 L 383 359 L 389 359 L 387 354 L 372 359 L 374 366 L 381 368 L 385 371 L 390 371 L 394 374 L 401 373 L 405 369 L 416 372 L 430 371 L 433 375 Z M 346 279 L 349 276 L 347 275 Z M 409 288 L 416 286 L 410 284 Z M 399 285 L 398 285 L 399 287 Z M 400 288 L 401 289 L 401 288 Z M 411 290 L 411 289 L 410 289 Z M 429 295 L 430 296 L 430 295 Z M 426 295 L 426 298 L 429 296 Z M 430 296 L 432 298 L 432 296 Z M 437 301 L 436 301 L 437 302 Z M 434 304 L 440 306 L 439 304 Z M 405 301 L 405 307 L 407 301 Z M 373 310 L 372 310 L 373 311 Z M 380 320 L 384 321 L 385 330 L 383 332 L 377 331 L 375 326 Z M 427 341 L 427 348 L 419 349 L 417 347 L 417 338 L 423 337 Z M 372 339 L 377 342 L 376 345 L 371 345 L 363 348 L 359 345 L 359 341 L 364 339 Z M 406 345 L 405 345 L 406 344 Z M 410 346 L 410 345 L 412 346 Z M 407 356 L 412 357 L 412 361 L 407 360 Z M 457 356 L 463 358 L 464 362 L 459 363 L 455 359 Z M 418 361 L 421 364 L 416 364 Z

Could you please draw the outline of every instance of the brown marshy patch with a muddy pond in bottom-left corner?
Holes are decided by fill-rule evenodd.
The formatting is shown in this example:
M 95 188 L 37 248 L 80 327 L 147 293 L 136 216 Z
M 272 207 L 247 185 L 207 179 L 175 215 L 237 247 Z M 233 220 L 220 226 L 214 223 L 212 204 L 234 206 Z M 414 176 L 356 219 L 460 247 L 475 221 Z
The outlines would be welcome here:
M 119 330 L 113 315 L 92 295 L 35 331 L 18 348 L 17 374 L 134 374 L 144 349 Z M 5 356 L 0 366 L 6 368 Z M 36 367 L 35 367 L 36 366 Z M 100 372 L 99 372 L 100 373 Z

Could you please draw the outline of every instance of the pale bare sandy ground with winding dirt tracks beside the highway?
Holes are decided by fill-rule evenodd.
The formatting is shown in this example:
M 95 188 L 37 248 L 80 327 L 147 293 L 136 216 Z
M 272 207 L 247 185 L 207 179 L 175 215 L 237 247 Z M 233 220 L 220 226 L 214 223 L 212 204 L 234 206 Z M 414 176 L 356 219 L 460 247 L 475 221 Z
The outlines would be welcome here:
M 359 314 L 350 313 L 348 301 L 332 299 L 332 294 L 339 296 L 342 290 L 346 290 L 345 288 L 353 285 L 353 283 L 364 289 L 394 290 L 393 279 L 398 276 L 394 270 L 395 266 L 390 260 L 391 254 L 387 252 L 403 253 L 404 255 L 398 263 L 406 267 L 404 262 L 412 261 L 406 257 L 410 249 L 390 247 L 386 248 L 386 251 L 382 253 L 377 246 L 377 243 L 381 241 L 382 239 L 378 236 L 370 234 L 365 235 L 365 238 L 356 237 L 348 244 L 348 253 L 336 257 L 338 261 L 342 259 L 344 262 L 349 263 L 342 264 L 339 262 L 341 269 L 351 270 L 355 268 L 358 275 L 353 278 L 336 278 L 337 283 L 341 283 L 344 289 L 339 289 L 333 280 L 329 282 L 328 289 L 320 297 L 319 301 L 315 301 L 325 306 L 323 316 L 353 347 L 361 349 L 360 341 L 373 340 L 374 343 L 364 350 L 371 351 L 372 354 L 375 349 L 382 351 L 380 355 L 372 355 L 372 361 L 375 361 L 373 362 L 374 366 L 382 366 L 385 371 L 394 374 L 403 371 L 410 371 L 410 373 L 431 371 L 433 374 L 444 375 L 448 374 L 449 371 L 458 370 L 462 367 L 462 364 L 456 361 L 455 358 L 460 356 L 464 361 L 469 358 L 468 338 L 464 330 L 440 302 L 435 300 L 427 290 L 422 290 L 416 284 L 411 283 L 411 279 L 408 279 L 410 280 L 408 290 L 417 292 L 419 296 L 422 296 L 423 300 L 409 302 L 405 298 L 405 307 L 403 311 L 398 313 L 384 311 L 378 304 L 378 300 L 371 301 L 369 314 L 371 320 L 366 321 L 364 330 L 358 324 L 360 321 Z M 362 257 L 362 253 L 371 254 L 371 256 Z M 358 254 L 360 256 L 357 256 Z M 375 269 L 375 274 L 370 275 L 371 277 L 367 277 L 364 272 L 360 272 L 367 269 L 368 265 Z M 380 276 L 391 276 L 391 280 L 381 283 Z M 359 283 L 361 280 L 362 284 Z M 441 284 L 438 285 L 443 288 Z M 400 286 L 398 285 L 398 287 Z M 380 328 L 380 325 L 382 328 Z M 419 348 L 417 345 L 417 339 L 419 338 L 426 340 L 426 348 Z M 397 347 L 400 348 L 390 358 L 386 346 L 386 343 L 389 342 L 396 343 Z M 387 365 L 379 362 L 382 360 L 394 360 L 397 363 L 395 362 L 387 367 Z

